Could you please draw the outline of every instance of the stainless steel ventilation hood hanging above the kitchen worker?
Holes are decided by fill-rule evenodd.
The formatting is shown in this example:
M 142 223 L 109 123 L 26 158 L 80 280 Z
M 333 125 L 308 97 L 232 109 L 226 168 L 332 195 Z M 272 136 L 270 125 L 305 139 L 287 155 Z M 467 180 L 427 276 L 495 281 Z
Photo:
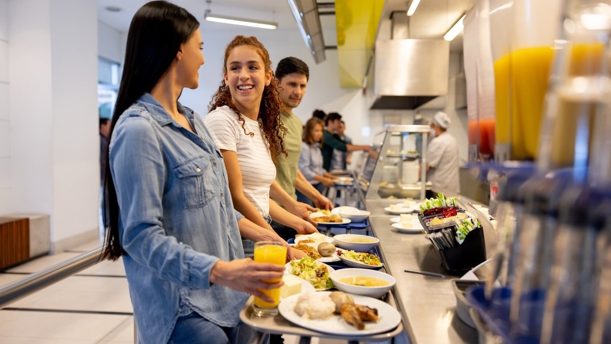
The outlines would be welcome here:
M 450 42 L 378 40 L 371 109 L 415 109 L 448 92 Z

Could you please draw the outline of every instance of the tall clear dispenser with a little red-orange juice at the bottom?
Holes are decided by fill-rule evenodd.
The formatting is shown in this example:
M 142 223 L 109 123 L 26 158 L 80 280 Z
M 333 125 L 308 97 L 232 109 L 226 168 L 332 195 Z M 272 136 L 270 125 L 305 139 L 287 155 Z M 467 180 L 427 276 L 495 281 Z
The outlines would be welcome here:
M 469 161 L 494 158 L 494 70 L 490 49 L 489 0 L 480 0 L 464 18 Z

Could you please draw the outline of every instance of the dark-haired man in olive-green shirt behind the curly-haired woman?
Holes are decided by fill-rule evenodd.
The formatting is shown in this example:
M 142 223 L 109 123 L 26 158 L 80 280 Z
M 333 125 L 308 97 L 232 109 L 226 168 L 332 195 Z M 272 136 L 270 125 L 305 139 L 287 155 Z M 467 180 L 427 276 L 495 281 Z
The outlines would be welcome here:
M 291 213 L 300 214 L 300 217 L 308 219 L 310 217 L 307 210 L 314 211 L 315 208 L 310 207 L 304 211 L 304 208 L 295 210 L 295 207 L 291 207 L 291 202 L 298 205 L 302 204 L 296 202 L 296 190 L 310 199 L 317 208 L 326 210 L 333 208 L 331 201 L 318 192 L 299 172 L 303 123 L 297 115 L 293 114 L 293 109 L 299 106 L 304 97 L 309 76 L 310 71 L 307 64 L 296 57 L 285 57 L 278 62 L 276 67 L 276 78 L 279 80 L 279 97 L 282 102 L 280 118 L 287 130 L 284 136 L 284 147 L 288 155 L 286 157 L 280 156 L 280 159 L 276 161 L 277 183 L 274 183 L 270 189 L 273 200 L 282 204 Z M 300 210 L 301 213 L 299 213 Z M 285 240 L 295 237 L 295 230 L 275 221 L 272 221 L 271 225 Z

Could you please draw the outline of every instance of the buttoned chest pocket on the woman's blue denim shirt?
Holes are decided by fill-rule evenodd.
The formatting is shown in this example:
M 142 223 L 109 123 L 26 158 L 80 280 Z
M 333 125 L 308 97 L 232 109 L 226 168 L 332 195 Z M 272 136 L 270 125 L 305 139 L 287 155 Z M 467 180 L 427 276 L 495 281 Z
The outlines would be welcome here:
M 172 167 L 185 209 L 203 207 L 214 197 L 218 182 L 210 165 L 210 159 L 197 156 Z

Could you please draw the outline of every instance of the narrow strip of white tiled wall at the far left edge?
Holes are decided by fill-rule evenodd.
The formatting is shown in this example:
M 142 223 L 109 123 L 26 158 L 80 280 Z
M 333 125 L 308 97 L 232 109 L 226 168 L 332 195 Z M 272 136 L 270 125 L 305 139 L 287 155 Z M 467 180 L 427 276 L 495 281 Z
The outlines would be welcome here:
M 10 210 L 9 15 L 0 0 L 0 214 Z

